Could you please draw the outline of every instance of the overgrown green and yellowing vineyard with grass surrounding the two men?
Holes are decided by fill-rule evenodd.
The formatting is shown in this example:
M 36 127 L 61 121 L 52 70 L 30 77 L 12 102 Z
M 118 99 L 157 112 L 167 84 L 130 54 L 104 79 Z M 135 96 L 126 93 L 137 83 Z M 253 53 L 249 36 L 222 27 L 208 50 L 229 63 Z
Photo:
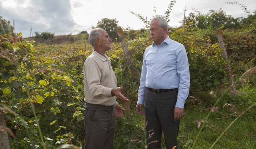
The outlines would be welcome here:
M 192 24 L 168 31 L 187 50 L 191 80 L 178 144 L 183 149 L 256 148 L 256 21 L 241 29 L 223 29 L 229 61 L 221 57 L 216 30 Z M 6 126 L 0 130 L 8 132 L 11 149 L 84 147 L 83 63 L 92 47 L 88 33 L 69 36 L 54 37 L 63 40 L 54 42 L 23 39 L 22 33 L 1 35 L 0 121 Z M 147 31 L 126 39 L 132 66 L 120 42 L 112 39 L 106 53 L 118 86 L 130 99 L 130 109 L 117 118 L 114 148 L 142 149 L 145 121 L 135 112 L 139 79 L 130 68 L 140 75 L 144 50 L 152 41 Z M 230 75 L 236 98 L 229 90 Z

